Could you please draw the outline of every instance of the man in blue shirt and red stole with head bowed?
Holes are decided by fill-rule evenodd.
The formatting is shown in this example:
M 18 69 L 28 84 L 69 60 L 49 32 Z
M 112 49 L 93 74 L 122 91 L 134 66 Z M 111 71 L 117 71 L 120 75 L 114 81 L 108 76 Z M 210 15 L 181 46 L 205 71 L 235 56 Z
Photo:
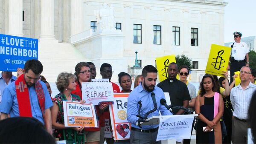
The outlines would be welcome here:
M 24 66 L 24 74 L 7 86 L 3 91 L 0 103 L 1 120 L 10 117 L 34 117 L 45 125 L 52 134 L 52 118 L 50 107 L 52 99 L 47 86 L 38 81 L 43 72 L 39 60 L 28 60 Z

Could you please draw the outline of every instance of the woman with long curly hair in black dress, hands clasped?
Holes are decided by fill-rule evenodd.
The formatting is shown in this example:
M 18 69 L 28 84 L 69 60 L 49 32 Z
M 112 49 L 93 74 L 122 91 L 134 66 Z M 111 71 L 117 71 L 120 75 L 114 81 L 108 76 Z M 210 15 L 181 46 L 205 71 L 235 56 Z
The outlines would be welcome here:
M 220 118 L 224 112 L 224 103 L 216 91 L 212 75 L 204 75 L 195 101 L 195 113 L 199 118 L 196 126 L 197 144 L 222 143 Z

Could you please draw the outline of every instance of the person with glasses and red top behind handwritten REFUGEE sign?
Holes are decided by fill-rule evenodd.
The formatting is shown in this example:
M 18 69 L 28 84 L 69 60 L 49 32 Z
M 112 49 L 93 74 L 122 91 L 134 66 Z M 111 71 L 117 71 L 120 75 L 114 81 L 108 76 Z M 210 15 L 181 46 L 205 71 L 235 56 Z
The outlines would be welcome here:
M 90 66 L 86 62 L 77 63 L 75 67 L 75 75 L 77 77 L 76 81 L 76 90 L 72 91 L 73 94 L 79 95 L 82 99 L 82 91 L 81 91 L 81 84 L 83 82 L 91 82 L 91 72 Z M 107 107 L 107 105 L 97 105 L 96 107 L 96 116 L 99 117 L 99 125 L 101 127 L 105 127 L 105 121 L 102 115 L 102 112 Z M 86 144 L 99 144 L 100 141 L 100 130 L 101 127 L 96 128 L 84 128 L 84 136 L 85 136 L 85 143 Z

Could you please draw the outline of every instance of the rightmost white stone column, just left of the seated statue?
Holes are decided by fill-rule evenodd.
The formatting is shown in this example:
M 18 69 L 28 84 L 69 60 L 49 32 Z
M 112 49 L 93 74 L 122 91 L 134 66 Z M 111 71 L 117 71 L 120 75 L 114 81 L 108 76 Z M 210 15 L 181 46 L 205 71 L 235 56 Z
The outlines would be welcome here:
M 83 0 L 71 0 L 71 36 L 83 32 Z

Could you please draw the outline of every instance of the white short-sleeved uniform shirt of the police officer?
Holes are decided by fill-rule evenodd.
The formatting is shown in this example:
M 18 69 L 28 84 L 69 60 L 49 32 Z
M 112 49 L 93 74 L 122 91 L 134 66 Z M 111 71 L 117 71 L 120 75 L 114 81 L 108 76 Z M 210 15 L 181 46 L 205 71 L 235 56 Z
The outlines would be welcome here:
M 231 47 L 233 43 L 230 43 L 229 47 Z M 250 52 L 246 43 L 240 41 L 240 43 L 234 43 L 233 48 L 231 50 L 231 57 L 234 57 L 235 60 L 244 60 L 245 55 Z

